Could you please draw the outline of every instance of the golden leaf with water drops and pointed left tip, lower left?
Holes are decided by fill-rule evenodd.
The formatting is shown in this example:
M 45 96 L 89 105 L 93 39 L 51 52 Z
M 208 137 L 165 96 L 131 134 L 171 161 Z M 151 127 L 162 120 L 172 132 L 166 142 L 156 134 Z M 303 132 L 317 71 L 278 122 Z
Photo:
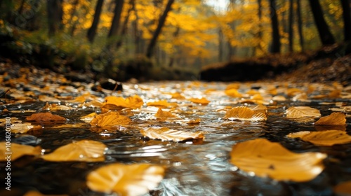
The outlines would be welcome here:
M 57 148 L 53 153 L 43 155 L 47 161 L 105 161 L 105 150 L 107 146 L 100 141 L 81 140 Z

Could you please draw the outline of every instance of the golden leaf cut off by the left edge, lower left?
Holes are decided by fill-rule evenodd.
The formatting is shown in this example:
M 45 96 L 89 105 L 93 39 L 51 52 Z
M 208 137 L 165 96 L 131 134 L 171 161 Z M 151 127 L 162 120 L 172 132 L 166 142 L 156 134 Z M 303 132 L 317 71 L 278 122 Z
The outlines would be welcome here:
M 7 158 L 9 158 L 10 161 L 14 161 L 22 157 L 23 155 L 34 155 L 34 156 L 40 155 L 41 148 L 40 146 L 33 147 L 33 146 L 27 146 L 22 144 L 15 144 L 15 143 L 11 143 L 8 146 L 8 144 L 6 144 L 6 141 L 1 141 L 0 153 L 2 155 L 2 158 L 0 159 L 0 161 L 8 161 Z M 8 154 L 8 153 L 11 153 L 11 154 Z

